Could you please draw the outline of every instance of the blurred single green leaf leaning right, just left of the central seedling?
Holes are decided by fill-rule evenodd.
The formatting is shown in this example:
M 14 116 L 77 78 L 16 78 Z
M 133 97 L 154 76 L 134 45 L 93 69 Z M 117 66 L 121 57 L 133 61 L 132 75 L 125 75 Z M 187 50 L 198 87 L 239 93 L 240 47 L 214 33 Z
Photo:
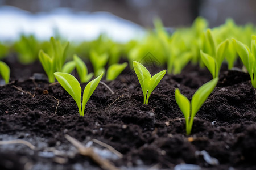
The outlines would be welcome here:
M 122 73 L 122 71 L 127 67 L 127 62 L 122 64 L 113 64 L 109 66 L 109 69 L 106 72 L 106 80 L 107 81 L 113 81 L 117 78 L 119 74 Z

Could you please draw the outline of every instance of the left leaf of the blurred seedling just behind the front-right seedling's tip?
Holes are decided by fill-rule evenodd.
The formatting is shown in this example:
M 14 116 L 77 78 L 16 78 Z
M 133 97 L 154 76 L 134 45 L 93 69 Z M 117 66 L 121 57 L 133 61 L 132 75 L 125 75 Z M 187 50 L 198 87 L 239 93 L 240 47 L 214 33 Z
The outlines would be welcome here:
M 216 78 L 216 59 L 212 56 L 204 53 L 202 50 L 200 50 L 201 59 L 204 62 L 204 65 L 207 67 L 207 69 L 212 74 L 213 78 Z

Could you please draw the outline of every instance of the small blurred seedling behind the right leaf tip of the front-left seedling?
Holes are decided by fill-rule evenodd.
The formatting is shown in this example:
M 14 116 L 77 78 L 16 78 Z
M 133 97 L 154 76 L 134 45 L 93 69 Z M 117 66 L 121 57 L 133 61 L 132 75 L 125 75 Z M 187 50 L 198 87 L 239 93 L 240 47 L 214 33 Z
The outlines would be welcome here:
M 108 54 L 98 54 L 95 50 L 90 52 L 90 62 L 93 65 L 94 74 L 96 76 L 100 75 L 102 72 L 105 73 L 105 65 L 108 62 Z

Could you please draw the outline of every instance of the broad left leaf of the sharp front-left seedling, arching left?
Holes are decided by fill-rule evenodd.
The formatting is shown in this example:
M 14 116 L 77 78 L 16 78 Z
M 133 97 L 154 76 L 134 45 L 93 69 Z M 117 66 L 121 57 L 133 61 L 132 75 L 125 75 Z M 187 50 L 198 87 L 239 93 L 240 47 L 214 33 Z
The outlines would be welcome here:
M 68 92 L 69 95 L 76 101 L 77 107 L 79 108 L 80 116 L 83 116 L 81 111 L 81 86 L 77 79 L 68 73 L 55 72 L 56 79 L 60 85 Z

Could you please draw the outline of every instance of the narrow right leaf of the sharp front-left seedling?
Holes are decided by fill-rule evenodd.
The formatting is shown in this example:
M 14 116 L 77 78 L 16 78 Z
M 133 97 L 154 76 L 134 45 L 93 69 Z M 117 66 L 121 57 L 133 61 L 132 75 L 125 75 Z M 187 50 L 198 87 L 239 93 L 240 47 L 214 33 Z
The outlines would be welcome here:
M 102 76 L 103 76 L 103 72 L 101 73 L 100 76 L 98 76 L 94 80 L 90 81 L 86 85 L 86 87 L 84 89 L 84 94 L 82 95 L 82 116 L 84 116 L 85 105 L 86 105 L 87 101 L 90 99 L 90 96 L 92 96 L 96 87 L 98 86 L 98 83 L 100 83 Z

